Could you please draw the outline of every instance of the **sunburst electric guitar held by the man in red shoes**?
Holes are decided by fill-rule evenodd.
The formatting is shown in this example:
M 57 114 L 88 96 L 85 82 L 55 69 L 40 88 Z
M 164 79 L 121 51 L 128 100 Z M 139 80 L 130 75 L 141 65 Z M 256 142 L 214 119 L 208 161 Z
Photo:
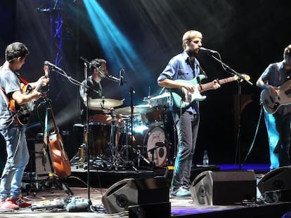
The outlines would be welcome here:
M 22 87 L 21 92 L 28 94 L 32 90 L 39 91 L 41 89 L 41 86 L 42 83 L 38 83 L 37 87 L 32 88 L 32 86 L 30 86 L 30 84 L 28 83 Z M 19 125 L 25 125 L 30 121 L 30 114 L 34 110 L 34 102 L 35 100 L 30 100 L 25 104 L 18 104 L 17 102 L 15 102 L 15 100 L 10 100 L 9 107 L 12 111 L 16 123 L 18 123 Z

